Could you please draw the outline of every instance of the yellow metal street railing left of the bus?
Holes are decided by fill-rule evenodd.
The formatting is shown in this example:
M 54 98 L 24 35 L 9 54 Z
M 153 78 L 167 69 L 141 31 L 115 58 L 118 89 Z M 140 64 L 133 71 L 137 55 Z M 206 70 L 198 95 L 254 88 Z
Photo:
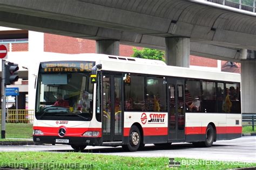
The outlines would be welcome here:
M 0 120 L 2 110 L 0 110 Z M 5 121 L 6 123 L 33 123 L 34 110 L 8 110 L 6 111 Z M 0 121 L 1 122 L 1 121 Z

